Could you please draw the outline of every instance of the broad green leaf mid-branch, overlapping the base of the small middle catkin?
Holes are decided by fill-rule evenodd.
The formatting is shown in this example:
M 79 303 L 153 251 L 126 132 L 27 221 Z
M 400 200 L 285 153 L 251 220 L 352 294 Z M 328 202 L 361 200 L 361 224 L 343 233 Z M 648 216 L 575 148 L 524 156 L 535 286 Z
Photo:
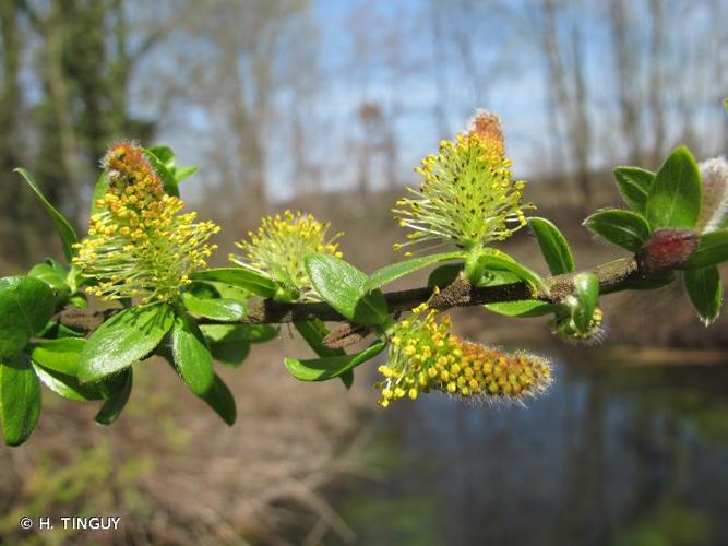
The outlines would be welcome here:
M 331 254 L 306 257 L 306 270 L 319 295 L 344 318 L 358 324 L 383 324 L 390 320 L 384 295 L 365 292 L 367 275 Z

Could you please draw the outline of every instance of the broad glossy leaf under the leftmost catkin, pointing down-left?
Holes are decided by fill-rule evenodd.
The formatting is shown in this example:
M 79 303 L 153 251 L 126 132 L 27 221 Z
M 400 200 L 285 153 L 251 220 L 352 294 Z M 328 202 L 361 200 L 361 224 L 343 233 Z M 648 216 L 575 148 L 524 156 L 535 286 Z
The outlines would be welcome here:
M 124 309 L 107 320 L 81 352 L 79 379 L 98 381 L 150 355 L 175 321 L 163 304 Z

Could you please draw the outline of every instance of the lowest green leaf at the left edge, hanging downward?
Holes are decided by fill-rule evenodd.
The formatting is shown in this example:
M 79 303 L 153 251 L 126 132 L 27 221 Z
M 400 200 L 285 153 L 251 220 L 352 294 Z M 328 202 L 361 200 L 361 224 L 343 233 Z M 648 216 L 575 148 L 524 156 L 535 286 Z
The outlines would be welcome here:
M 0 422 L 8 446 L 20 446 L 40 416 L 40 383 L 27 355 L 0 360 Z

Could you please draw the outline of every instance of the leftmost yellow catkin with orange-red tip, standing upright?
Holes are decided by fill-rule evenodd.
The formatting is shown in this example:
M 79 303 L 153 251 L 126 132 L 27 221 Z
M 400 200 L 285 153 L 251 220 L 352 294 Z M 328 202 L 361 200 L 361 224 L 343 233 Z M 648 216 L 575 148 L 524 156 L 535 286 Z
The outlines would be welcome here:
M 217 249 L 207 241 L 219 227 L 194 223 L 194 212 L 181 214 L 184 202 L 165 192 L 139 145 L 117 143 L 102 164 L 109 186 L 95 202 L 99 212 L 92 215 L 88 236 L 76 245 L 73 259 L 84 275 L 97 281 L 88 293 L 107 300 L 174 300 L 190 275 L 207 265 Z

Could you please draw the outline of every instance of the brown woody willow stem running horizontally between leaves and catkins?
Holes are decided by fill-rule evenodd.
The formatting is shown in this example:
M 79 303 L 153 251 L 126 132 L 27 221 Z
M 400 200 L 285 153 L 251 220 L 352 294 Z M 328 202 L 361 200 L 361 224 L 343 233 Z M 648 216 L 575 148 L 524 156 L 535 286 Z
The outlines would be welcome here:
M 639 281 L 665 274 L 666 271 L 653 271 L 651 275 L 640 272 L 634 258 L 625 258 L 605 263 L 592 270 L 599 280 L 600 294 L 609 294 L 629 288 L 632 281 Z M 557 275 L 546 280 L 548 290 L 534 292 L 526 283 L 511 283 L 499 286 L 474 286 L 465 278 L 458 277 L 449 286 L 433 294 L 430 287 L 413 288 L 401 292 L 385 293 L 384 297 L 393 314 L 408 311 L 422 302 L 429 301 L 429 307 L 443 311 L 453 307 L 470 307 L 484 304 L 518 301 L 523 299 L 538 299 L 547 302 L 561 301 L 574 290 L 574 276 L 577 273 Z M 88 310 L 68 308 L 61 311 L 56 320 L 69 328 L 91 332 L 105 320 L 119 312 L 120 309 Z M 235 322 L 237 324 L 282 324 L 319 319 L 327 322 L 345 322 L 331 306 L 323 302 L 282 304 L 271 299 L 251 300 L 248 304 L 248 314 Z M 200 324 L 230 324 L 212 319 L 200 319 Z

